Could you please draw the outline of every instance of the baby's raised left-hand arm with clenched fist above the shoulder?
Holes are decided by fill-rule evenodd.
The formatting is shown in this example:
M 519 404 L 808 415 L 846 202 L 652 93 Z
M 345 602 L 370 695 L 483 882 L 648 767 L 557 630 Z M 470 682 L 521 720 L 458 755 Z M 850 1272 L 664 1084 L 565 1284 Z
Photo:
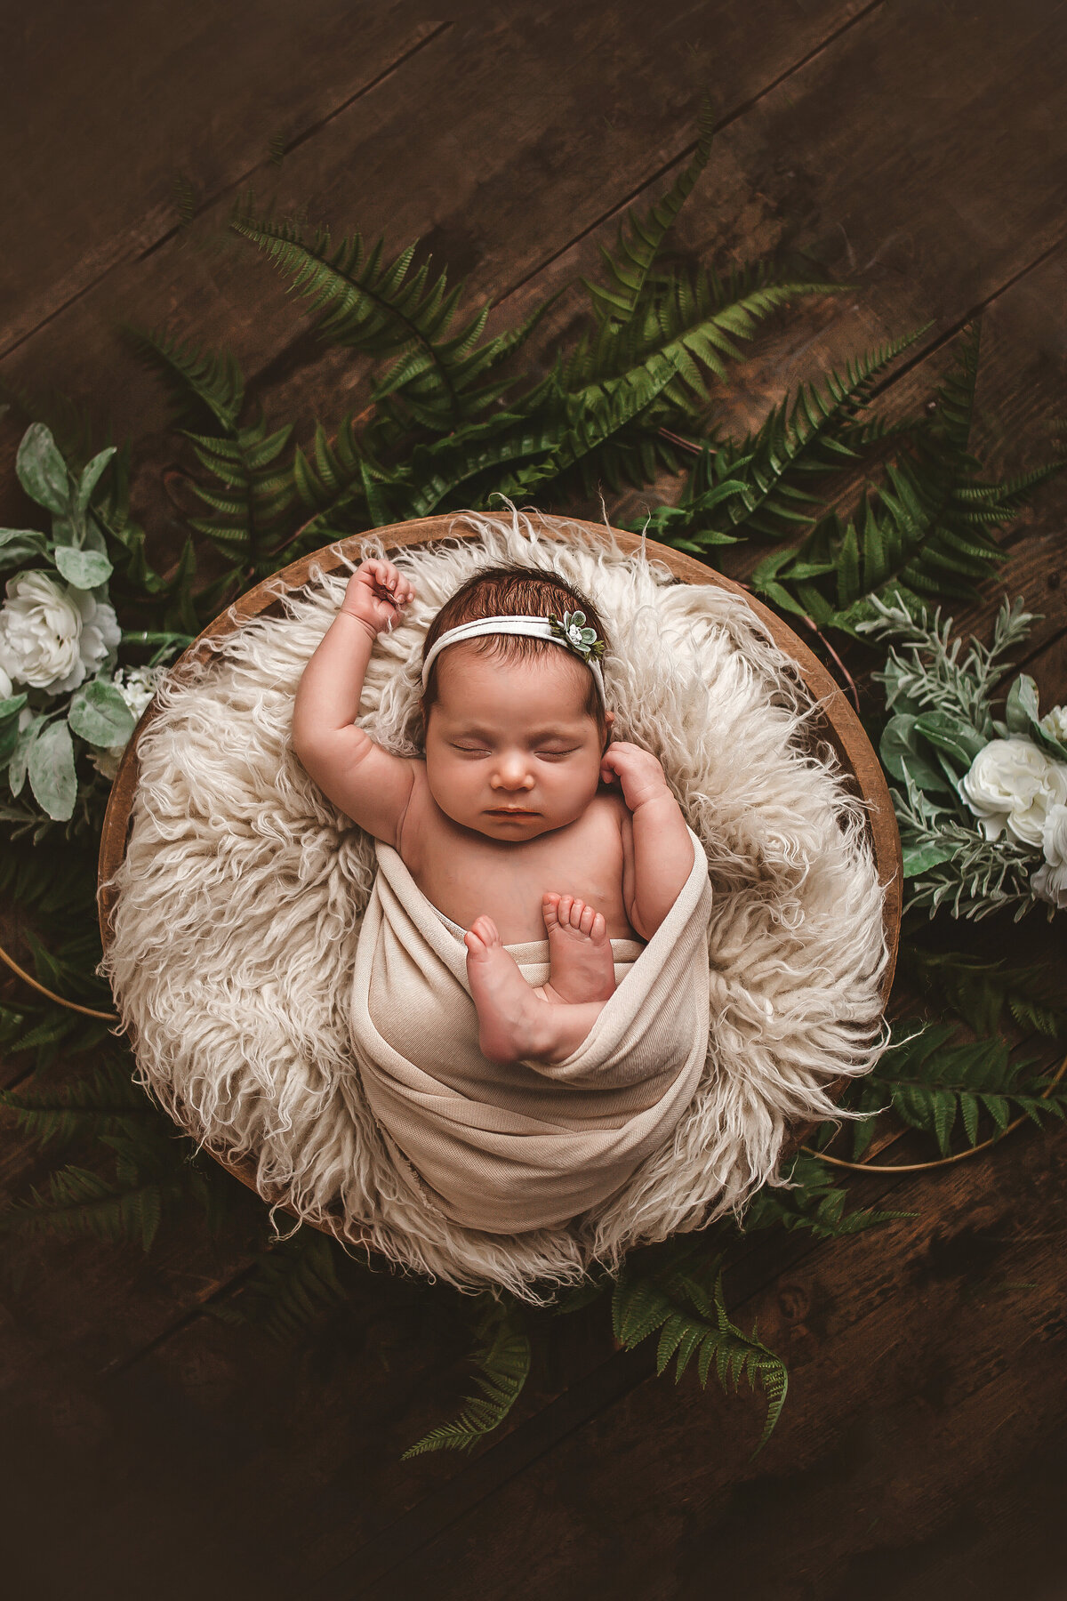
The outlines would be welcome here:
M 414 764 L 382 751 L 354 717 L 374 640 L 413 594 L 392 562 L 362 562 L 304 668 L 293 708 L 293 749 L 310 778 L 354 823 L 394 849 L 400 849 Z

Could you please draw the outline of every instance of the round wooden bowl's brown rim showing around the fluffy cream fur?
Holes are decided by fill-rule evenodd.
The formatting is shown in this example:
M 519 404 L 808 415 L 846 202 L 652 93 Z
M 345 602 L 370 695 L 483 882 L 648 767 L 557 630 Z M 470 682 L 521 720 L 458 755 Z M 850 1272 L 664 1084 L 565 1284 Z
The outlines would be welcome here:
M 573 517 L 568 519 L 568 522 L 584 528 L 590 535 L 605 535 L 601 524 L 582 522 Z M 641 540 L 637 535 L 622 533 L 617 528 L 613 528 L 611 533 L 624 551 L 641 549 Z M 234 634 L 250 618 L 262 616 L 270 612 L 280 612 L 280 596 L 293 589 L 302 589 L 304 584 L 307 584 L 314 567 L 322 568 L 325 573 L 333 573 L 346 565 L 346 557 L 350 560 L 358 559 L 362 546 L 374 535 L 381 538 L 387 551 L 403 551 L 408 546 L 429 544 L 434 540 L 451 540 L 456 538 L 456 516 L 421 517 L 416 522 L 397 522 L 386 528 L 374 528 L 365 535 L 352 535 L 349 540 L 341 540 L 322 551 L 314 551 L 310 556 L 301 557 L 299 562 L 283 567 L 278 573 L 274 573 L 261 584 L 256 584 L 254 589 L 250 589 L 248 594 L 229 605 L 222 616 L 216 618 L 214 623 L 205 628 L 184 655 L 179 656 L 171 668 L 171 672 L 181 674 L 186 664 L 203 661 L 206 656 L 213 655 L 213 647 L 224 640 L 227 634 Z M 470 538 L 474 538 L 474 535 Z M 672 551 L 665 544 L 657 544 L 654 540 L 646 540 L 645 549 L 649 559 L 662 562 L 664 567 L 670 568 L 670 572 L 681 583 L 713 584 L 718 589 L 728 589 L 737 597 L 739 605 L 745 605 L 755 612 L 760 621 L 766 624 L 777 647 L 797 663 L 800 676 L 803 677 L 813 698 L 822 701 L 822 727 L 819 732 L 837 751 L 841 768 L 846 780 L 854 788 L 854 792 L 867 804 L 870 842 L 878 868 L 878 877 L 885 885 L 885 930 L 889 948 L 889 961 L 881 983 L 881 999 L 885 1004 L 889 999 L 901 933 L 901 897 L 904 882 L 901 837 L 897 834 L 893 802 L 889 799 L 881 765 L 870 748 L 870 741 L 864 733 L 859 717 L 845 698 L 843 690 L 830 677 L 817 656 L 814 656 L 803 640 L 793 634 L 792 628 L 787 628 L 787 624 L 782 623 L 774 612 L 755 600 L 745 589 L 741 588 L 741 584 L 733 583 L 729 578 L 723 578 L 721 573 L 712 572 L 710 567 L 704 567 L 691 556 L 683 556 L 681 551 Z M 98 909 L 104 949 L 107 949 L 110 943 L 110 919 L 115 905 L 115 893 L 110 882 L 126 853 L 130 818 L 138 789 L 138 744 L 146 728 L 150 727 L 154 716 L 155 703 L 152 701 L 123 752 L 110 799 L 107 802 L 107 812 L 104 815 L 98 874 Z M 840 1092 L 843 1084 L 845 1081 L 841 1079 L 837 1085 L 830 1085 L 830 1093 Z M 805 1129 L 793 1130 L 782 1154 L 790 1154 L 790 1151 L 801 1143 L 805 1134 Z M 211 1154 L 227 1169 L 227 1172 L 232 1172 L 242 1180 L 242 1183 L 248 1185 L 250 1190 L 258 1188 L 254 1178 L 254 1162 L 250 1159 L 227 1159 L 224 1153 L 216 1151 Z M 288 1210 L 288 1207 L 283 1206 L 283 1210 Z

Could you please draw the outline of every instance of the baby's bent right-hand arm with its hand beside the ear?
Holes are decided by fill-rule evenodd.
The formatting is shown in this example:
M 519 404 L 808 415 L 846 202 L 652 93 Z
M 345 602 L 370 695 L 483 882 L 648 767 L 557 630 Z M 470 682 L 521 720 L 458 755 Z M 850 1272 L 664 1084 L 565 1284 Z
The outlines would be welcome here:
M 633 813 L 633 889 L 625 914 L 651 940 L 693 871 L 693 841 L 651 751 L 617 740 L 603 754 L 600 776 L 608 784 L 619 778 Z M 627 898 L 625 882 L 622 893 Z

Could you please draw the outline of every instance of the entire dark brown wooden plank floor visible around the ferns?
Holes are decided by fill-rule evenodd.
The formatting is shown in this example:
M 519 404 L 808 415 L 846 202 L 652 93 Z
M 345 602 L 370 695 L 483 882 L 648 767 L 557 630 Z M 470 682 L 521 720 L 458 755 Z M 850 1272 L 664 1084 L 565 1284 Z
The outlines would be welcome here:
M 904 403 L 979 311 L 985 443 L 1040 455 L 1043 419 L 1067 413 L 1057 0 L 35 0 L 0 35 L 0 378 L 88 403 L 149 464 L 163 400 L 123 320 L 232 347 L 275 416 L 352 399 L 346 363 L 226 237 L 238 192 L 421 235 L 507 325 L 661 192 L 705 85 L 720 133 L 685 250 L 729 266 L 787 247 L 856 285 L 761 344 L 739 416 L 929 323 L 891 389 Z M 563 295 L 550 338 L 579 304 Z M 1001 592 L 1045 613 L 1043 706 L 1067 701 L 1065 516 L 1067 488 L 1045 492 L 966 620 L 985 629 Z M 178 536 L 162 498 L 154 533 Z M 8 1134 L 8 1188 L 40 1170 Z M 440 1290 L 368 1276 L 294 1354 L 206 1311 L 240 1287 L 240 1239 L 222 1252 L 190 1223 L 147 1260 L 21 1247 L 21 1284 L 0 1287 L 5 1593 L 1057 1601 L 1067 1143 L 1024 1130 L 945 1174 L 864 1183 L 917 1215 L 763 1246 L 734 1278 L 734 1314 L 758 1314 L 792 1370 L 755 1462 L 750 1399 L 657 1380 L 651 1354 L 614 1351 L 601 1308 L 552 1324 L 502 1438 L 402 1463 L 462 1393 Z

